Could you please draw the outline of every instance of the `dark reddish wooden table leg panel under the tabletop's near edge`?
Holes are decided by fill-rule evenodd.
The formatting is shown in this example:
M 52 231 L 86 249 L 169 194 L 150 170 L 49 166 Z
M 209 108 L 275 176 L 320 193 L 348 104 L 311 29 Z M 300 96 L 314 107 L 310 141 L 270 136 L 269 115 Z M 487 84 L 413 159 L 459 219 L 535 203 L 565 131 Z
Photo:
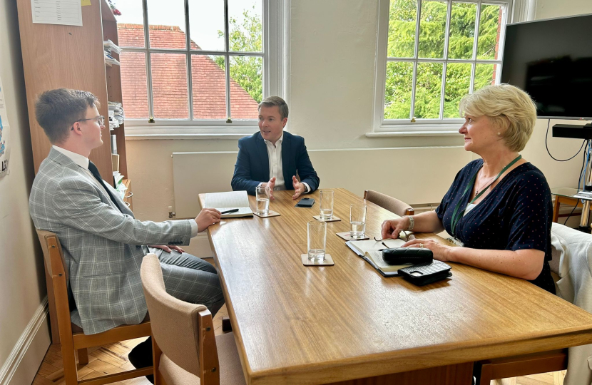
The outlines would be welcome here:
M 369 377 L 350 381 L 334 382 L 331 385 L 471 385 L 473 382 L 473 363 L 438 366 L 435 368 L 404 371 L 403 373 Z

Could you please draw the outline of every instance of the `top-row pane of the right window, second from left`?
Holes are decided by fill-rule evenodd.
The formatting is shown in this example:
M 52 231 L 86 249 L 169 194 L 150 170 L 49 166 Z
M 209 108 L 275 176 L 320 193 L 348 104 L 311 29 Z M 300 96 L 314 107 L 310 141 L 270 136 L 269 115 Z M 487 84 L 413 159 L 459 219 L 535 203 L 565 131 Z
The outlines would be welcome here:
M 445 1 L 422 1 L 421 21 L 419 22 L 419 57 L 443 58 L 444 35 L 446 34 Z

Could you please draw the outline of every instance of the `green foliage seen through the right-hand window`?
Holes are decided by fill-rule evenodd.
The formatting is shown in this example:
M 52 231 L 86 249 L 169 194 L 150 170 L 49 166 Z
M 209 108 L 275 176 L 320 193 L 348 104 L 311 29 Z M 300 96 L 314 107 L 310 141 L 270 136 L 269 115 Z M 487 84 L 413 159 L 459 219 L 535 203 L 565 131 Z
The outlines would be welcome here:
M 423 0 L 419 28 L 419 58 L 443 58 L 447 5 L 444 1 Z M 496 59 L 496 39 L 500 6 L 482 5 L 479 23 L 477 58 Z M 417 0 L 391 0 L 389 9 L 389 58 L 412 58 L 415 51 Z M 453 3 L 451 9 L 449 58 L 473 56 L 476 3 Z M 418 63 L 414 116 L 439 118 L 442 95 L 443 63 Z M 494 65 L 477 64 L 474 89 L 494 80 Z M 384 96 L 385 119 L 409 119 L 412 103 L 413 65 L 410 62 L 387 62 Z M 459 117 L 459 102 L 469 93 L 470 63 L 449 63 L 444 86 L 444 118 Z

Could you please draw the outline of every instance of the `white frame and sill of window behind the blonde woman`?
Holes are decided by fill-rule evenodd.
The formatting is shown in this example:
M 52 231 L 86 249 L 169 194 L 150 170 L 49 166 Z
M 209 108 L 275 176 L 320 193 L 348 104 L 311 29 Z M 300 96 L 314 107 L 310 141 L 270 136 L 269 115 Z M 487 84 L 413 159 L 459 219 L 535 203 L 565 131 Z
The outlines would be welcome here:
M 410 119 L 384 119 L 384 94 L 387 78 L 387 61 L 407 61 L 414 63 L 413 75 L 413 90 L 415 89 L 417 63 L 425 62 L 439 62 L 444 63 L 442 68 L 442 88 L 440 91 L 440 116 L 442 116 L 444 108 L 444 86 L 446 79 L 446 64 L 447 63 L 471 63 L 471 83 L 469 92 L 473 92 L 474 86 L 474 72 L 476 63 L 498 64 L 496 70 L 496 83 L 499 83 L 501 76 L 501 61 L 504 54 L 504 36 L 506 33 L 506 24 L 511 21 L 518 21 L 522 17 L 515 16 L 513 9 L 514 2 L 521 6 L 528 8 L 529 4 L 536 0 L 442 0 L 447 1 L 448 8 L 446 11 L 446 39 L 444 42 L 444 58 L 417 58 L 418 43 L 419 43 L 419 18 L 421 17 L 419 11 L 417 12 L 416 24 L 416 41 L 415 41 L 415 57 L 414 58 L 387 58 L 387 45 L 389 34 L 389 0 L 379 0 L 378 9 L 378 31 L 377 31 L 377 56 L 376 56 L 376 78 L 374 83 L 374 115 L 372 121 L 372 133 L 367 133 L 367 137 L 382 137 L 382 136 L 437 136 L 437 135 L 458 135 L 460 125 L 464 121 L 458 119 L 416 119 L 412 122 Z M 418 8 L 421 8 L 422 0 L 418 0 Z M 477 4 L 476 21 L 475 21 L 475 41 L 473 44 L 473 56 L 471 59 L 449 59 L 448 58 L 448 42 L 449 42 L 449 28 L 451 17 L 451 4 L 453 2 L 464 2 Z M 504 16 L 502 18 L 502 27 L 500 30 L 499 39 L 499 58 L 498 60 L 478 60 L 476 58 L 477 37 L 479 33 L 479 19 L 481 16 L 481 4 L 494 4 L 505 6 Z M 525 13 L 522 11 L 522 13 Z M 526 13 L 528 13 L 526 11 Z M 528 17 L 524 14 L 524 19 Z M 412 92 L 414 97 L 414 92 Z M 413 108 L 413 106 L 412 106 Z

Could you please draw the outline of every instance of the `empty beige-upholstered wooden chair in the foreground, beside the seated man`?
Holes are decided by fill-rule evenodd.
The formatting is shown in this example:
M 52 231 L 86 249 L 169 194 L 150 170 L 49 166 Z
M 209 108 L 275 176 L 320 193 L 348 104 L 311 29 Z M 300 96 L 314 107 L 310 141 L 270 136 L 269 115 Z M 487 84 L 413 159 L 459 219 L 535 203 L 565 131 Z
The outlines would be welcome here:
M 144 257 L 140 274 L 152 322 L 155 385 L 245 384 L 234 334 L 215 336 L 207 307 L 166 292 L 156 255 Z

